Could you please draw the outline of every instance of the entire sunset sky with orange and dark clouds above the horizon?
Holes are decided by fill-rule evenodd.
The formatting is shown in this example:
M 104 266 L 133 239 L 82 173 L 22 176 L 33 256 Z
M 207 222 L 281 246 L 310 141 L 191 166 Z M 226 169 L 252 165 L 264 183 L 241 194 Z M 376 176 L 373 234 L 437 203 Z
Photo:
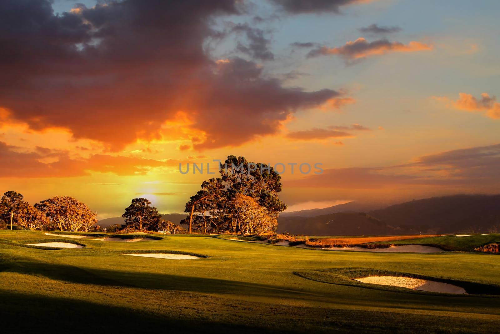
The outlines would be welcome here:
M 0 191 L 100 219 L 287 169 L 289 209 L 500 186 L 500 2 L 0 0 Z M 211 163 L 213 166 L 213 162 Z

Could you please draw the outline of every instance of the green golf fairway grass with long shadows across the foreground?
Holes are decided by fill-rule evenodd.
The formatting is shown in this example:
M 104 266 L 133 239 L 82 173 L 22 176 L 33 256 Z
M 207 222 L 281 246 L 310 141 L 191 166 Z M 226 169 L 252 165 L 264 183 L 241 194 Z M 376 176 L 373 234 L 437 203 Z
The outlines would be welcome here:
M 0 231 L 2 332 L 495 332 L 500 326 L 497 254 L 321 251 L 182 235 L 63 240 L 77 240 L 85 245 L 80 249 L 21 246 L 53 240 L 42 232 Z M 207 257 L 122 255 L 149 250 Z M 469 293 L 491 292 L 368 286 L 349 280 L 356 270 L 463 281 L 481 287 Z

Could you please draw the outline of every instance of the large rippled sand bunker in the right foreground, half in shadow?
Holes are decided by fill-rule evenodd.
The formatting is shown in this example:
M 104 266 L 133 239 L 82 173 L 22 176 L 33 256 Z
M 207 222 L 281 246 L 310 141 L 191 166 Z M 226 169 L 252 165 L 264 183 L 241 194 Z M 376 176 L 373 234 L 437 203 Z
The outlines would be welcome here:
M 413 290 L 467 294 L 465 289 L 462 287 L 448 283 L 435 282 L 427 279 L 401 276 L 369 276 L 356 278 L 355 280 L 363 283 L 399 286 Z

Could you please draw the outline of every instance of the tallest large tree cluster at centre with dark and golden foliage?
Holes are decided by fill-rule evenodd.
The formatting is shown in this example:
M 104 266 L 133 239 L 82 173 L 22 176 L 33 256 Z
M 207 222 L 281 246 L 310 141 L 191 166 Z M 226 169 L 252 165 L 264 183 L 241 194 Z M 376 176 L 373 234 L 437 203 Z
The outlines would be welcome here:
M 275 218 L 286 209 L 278 198 L 279 174 L 266 164 L 233 155 L 220 164 L 219 172 L 220 178 L 203 181 L 201 190 L 186 203 L 189 216 L 181 223 L 189 225 L 189 232 L 273 231 Z

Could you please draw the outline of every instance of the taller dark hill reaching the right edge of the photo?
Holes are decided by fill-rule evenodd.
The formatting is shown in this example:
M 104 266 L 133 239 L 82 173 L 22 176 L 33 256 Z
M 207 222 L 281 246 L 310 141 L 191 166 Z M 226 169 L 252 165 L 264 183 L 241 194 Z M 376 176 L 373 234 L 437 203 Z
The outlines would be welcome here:
M 369 212 L 388 225 L 422 233 L 488 232 L 500 229 L 500 195 L 432 197 Z

